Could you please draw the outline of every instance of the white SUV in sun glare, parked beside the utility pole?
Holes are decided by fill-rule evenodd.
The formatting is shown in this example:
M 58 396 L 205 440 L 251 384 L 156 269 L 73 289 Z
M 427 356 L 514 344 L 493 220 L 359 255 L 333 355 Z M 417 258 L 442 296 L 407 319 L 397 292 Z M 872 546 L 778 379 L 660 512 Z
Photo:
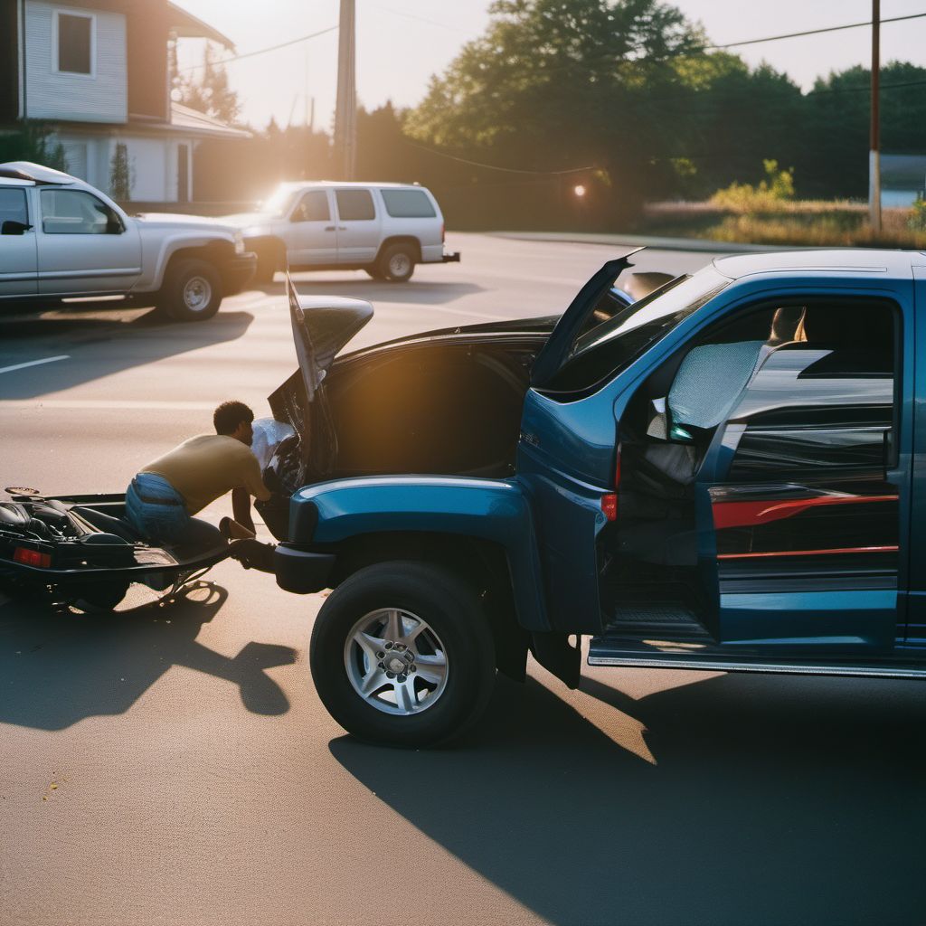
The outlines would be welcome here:
M 282 183 L 260 212 L 228 216 L 257 253 L 257 280 L 277 270 L 364 269 L 405 282 L 416 264 L 457 262 L 430 190 L 402 183 Z

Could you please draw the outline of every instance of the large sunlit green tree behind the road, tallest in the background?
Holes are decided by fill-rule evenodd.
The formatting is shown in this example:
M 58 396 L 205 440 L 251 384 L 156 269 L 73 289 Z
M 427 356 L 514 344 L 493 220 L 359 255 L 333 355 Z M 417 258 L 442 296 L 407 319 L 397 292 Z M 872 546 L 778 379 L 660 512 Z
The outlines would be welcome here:
M 675 59 L 700 55 L 702 32 L 656 0 L 496 0 L 491 14 L 407 133 L 495 164 L 601 169 L 624 203 L 657 185 L 675 146 L 659 118 L 683 89 Z

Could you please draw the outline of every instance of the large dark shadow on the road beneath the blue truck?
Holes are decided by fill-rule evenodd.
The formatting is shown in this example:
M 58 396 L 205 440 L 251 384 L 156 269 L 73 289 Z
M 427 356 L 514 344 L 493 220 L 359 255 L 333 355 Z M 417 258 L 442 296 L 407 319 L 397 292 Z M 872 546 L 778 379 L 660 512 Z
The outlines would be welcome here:
M 500 680 L 489 720 L 457 748 L 330 748 L 548 922 L 922 921 L 926 704 L 907 684 L 722 676 L 639 701 L 591 680 L 582 691 L 642 722 L 656 764 L 533 681 Z

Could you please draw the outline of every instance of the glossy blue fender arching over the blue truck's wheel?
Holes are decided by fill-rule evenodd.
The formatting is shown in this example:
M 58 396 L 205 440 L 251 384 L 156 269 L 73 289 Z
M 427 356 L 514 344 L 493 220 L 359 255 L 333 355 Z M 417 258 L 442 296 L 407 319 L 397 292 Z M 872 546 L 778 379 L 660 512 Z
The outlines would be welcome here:
M 290 541 L 334 546 L 366 534 L 437 532 L 505 550 L 519 624 L 550 630 L 530 499 L 518 479 L 381 476 L 320 482 L 290 502 Z

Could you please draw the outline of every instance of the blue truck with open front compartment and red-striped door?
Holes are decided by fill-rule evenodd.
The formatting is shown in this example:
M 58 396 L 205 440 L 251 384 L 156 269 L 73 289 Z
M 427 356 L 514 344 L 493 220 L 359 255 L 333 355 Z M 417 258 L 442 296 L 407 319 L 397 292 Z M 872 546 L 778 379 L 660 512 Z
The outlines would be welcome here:
M 337 358 L 372 308 L 290 286 L 264 515 L 282 588 L 333 590 L 310 661 L 349 732 L 442 743 L 529 652 L 576 686 L 583 636 L 595 666 L 926 676 L 926 255 L 725 257 L 636 300 L 630 257 L 558 318 Z

